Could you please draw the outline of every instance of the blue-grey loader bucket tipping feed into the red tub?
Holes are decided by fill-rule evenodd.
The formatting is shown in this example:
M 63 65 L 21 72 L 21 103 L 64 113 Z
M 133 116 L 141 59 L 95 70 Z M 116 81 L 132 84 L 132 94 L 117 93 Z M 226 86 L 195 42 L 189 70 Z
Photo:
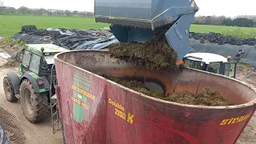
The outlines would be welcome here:
M 119 42 L 146 42 L 154 31 L 166 30 L 166 40 L 182 59 L 192 50 L 190 25 L 199 10 L 194 0 L 95 0 L 96 22 L 111 23 Z

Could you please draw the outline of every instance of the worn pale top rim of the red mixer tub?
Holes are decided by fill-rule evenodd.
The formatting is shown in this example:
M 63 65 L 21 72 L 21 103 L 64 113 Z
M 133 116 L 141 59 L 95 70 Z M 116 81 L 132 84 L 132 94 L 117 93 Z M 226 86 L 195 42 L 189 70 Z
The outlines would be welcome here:
M 67 51 L 67 52 L 61 52 L 61 53 L 58 53 L 58 54 L 55 54 L 54 55 L 54 59 L 57 60 L 58 62 L 61 62 L 61 63 L 65 63 L 66 65 L 68 66 L 71 66 L 71 67 L 74 67 L 75 69 L 78 69 L 78 70 L 82 70 L 82 71 L 85 71 L 89 74 L 94 74 L 88 70 L 84 70 L 78 66 L 74 66 L 68 62 L 64 62 L 62 61 L 61 59 L 58 58 L 58 55 L 61 55 L 61 54 L 65 54 L 65 53 L 70 53 L 70 52 L 74 52 L 74 51 L 95 51 L 95 50 L 70 50 L 70 51 Z M 107 52 L 106 50 L 97 50 L 97 51 L 102 51 L 102 52 Z M 190 69 L 191 68 L 187 68 L 187 69 Z M 193 69 L 195 70 L 195 69 Z M 197 71 L 202 71 L 202 70 L 197 70 Z M 210 72 L 206 72 L 206 71 L 202 71 L 203 73 L 209 73 L 209 74 L 212 74 Z M 232 81 L 235 81 L 235 82 L 239 82 L 241 83 L 242 85 L 244 86 L 247 86 L 249 87 L 251 90 L 254 90 L 254 93 L 256 94 L 256 88 L 254 88 L 254 86 L 250 85 L 249 83 L 247 82 L 242 82 L 242 81 L 239 81 L 238 79 L 234 79 L 234 78 L 230 78 L 230 77 L 226 77 L 224 75 L 221 75 L 221 74 L 214 74 L 218 77 L 225 77 L 225 78 L 229 78 L 230 80 Z M 169 101 L 165 101 L 165 100 L 162 100 L 162 99 L 159 99 L 159 98 L 153 98 L 153 97 L 150 97 L 146 94 L 142 94 L 142 93 L 139 93 L 135 90 L 131 90 L 125 86 L 122 86 L 116 82 L 112 82 L 110 81 L 109 79 L 107 78 L 103 78 L 102 76 L 99 76 L 98 74 L 94 74 L 94 76 L 98 77 L 98 78 L 102 78 L 102 79 L 105 79 L 107 82 L 111 82 L 113 83 L 114 85 L 117 85 L 117 86 L 121 86 L 123 89 L 125 90 L 130 90 L 132 91 L 133 93 L 135 94 L 138 94 L 139 96 L 142 96 L 143 98 L 149 98 L 151 100 L 154 100 L 154 101 L 158 101 L 158 102 L 162 102 L 162 103 L 166 103 L 166 104 L 173 104 L 173 105 L 176 105 L 176 106 L 185 106 L 185 107 L 188 107 L 188 108 L 198 108 L 198 109 L 210 109 L 210 110 L 222 110 L 222 109 L 240 109 L 240 108 L 243 108 L 243 107 L 247 107 L 247 106 L 254 106 L 254 110 L 256 110 L 256 98 L 250 102 L 246 102 L 244 104 L 240 104 L 240 105 L 234 105 L 234 106 L 200 106 L 200 105 L 189 105 L 189 104 L 182 104 L 182 103 L 178 103 L 178 102 L 169 102 Z

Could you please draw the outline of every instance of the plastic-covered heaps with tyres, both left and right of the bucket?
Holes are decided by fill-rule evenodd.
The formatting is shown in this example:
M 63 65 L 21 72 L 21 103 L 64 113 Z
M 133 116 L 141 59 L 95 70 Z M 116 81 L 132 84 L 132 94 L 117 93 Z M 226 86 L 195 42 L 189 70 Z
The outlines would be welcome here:
M 35 26 L 22 26 L 22 31 L 12 38 L 20 39 L 30 44 L 53 43 L 68 50 L 101 50 L 112 43 L 118 43 L 117 38 L 106 30 L 38 30 Z M 200 34 L 190 32 L 191 52 L 206 52 L 224 57 L 236 57 L 238 50 L 244 50 L 240 62 L 256 67 L 256 39 L 235 38 L 210 32 Z

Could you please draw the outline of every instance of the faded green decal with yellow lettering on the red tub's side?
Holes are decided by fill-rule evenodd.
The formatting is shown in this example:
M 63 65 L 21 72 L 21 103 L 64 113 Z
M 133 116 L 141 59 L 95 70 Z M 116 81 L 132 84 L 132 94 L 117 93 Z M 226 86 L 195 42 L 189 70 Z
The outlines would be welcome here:
M 74 120 L 82 123 L 85 117 L 86 110 L 89 110 L 89 106 L 86 104 L 87 98 L 94 100 L 94 95 L 89 93 L 90 90 L 90 76 L 82 74 L 78 71 L 74 71 L 74 83 L 72 85 L 74 90 L 72 101 L 74 107 Z

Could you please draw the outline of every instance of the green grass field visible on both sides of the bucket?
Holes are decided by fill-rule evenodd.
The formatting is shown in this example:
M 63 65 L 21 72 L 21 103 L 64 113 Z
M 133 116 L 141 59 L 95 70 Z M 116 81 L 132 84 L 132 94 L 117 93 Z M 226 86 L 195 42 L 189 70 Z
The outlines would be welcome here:
M 98 29 L 109 26 L 105 23 L 96 23 L 94 18 L 72 18 L 54 16 L 31 15 L 0 15 L 0 36 L 11 36 L 21 30 L 24 25 L 35 25 L 39 29 L 67 28 L 67 29 Z M 256 38 L 256 28 L 232 26 L 192 25 L 190 31 L 199 33 L 215 32 L 224 35 L 233 35 L 239 38 Z

